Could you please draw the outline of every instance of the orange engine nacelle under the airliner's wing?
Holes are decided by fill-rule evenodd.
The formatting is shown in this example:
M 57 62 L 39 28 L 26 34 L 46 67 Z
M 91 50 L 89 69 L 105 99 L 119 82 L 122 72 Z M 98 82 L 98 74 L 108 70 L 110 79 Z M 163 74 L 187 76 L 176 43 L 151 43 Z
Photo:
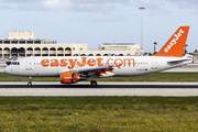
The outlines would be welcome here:
M 79 80 L 78 73 L 62 73 L 61 82 L 62 84 L 76 84 Z

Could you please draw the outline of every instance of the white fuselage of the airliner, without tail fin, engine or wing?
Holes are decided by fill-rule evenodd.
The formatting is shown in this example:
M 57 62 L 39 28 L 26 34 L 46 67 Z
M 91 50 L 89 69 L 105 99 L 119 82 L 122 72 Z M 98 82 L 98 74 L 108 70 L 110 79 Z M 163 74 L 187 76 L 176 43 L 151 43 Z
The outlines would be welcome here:
M 43 59 L 48 61 L 48 63 L 44 63 L 45 66 L 42 65 Z M 64 63 L 61 62 L 62 59 L 65 59 Z M 186 57 L 156 56 L 56 56 L 24 57 L 15 62 L 18 62 L 19 65 L 12 64 L 4 68 L 7 74 L 26 77 L 58 77 L 61 73 L 75 73 L 79 69 L 105 65 L 112 66 L 112 76 L 138 76 L 183 66 L 193 63 L 193 59 Z M 108 77 L 108 75 L 101 77 Z

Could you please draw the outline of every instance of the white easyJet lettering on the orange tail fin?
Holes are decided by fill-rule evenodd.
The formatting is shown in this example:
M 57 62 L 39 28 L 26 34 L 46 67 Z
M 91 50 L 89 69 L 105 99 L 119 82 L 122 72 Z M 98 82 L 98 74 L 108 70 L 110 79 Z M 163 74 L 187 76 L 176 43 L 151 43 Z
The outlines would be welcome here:
M 179 32 L 174 35 L 174 38 L 169 42 L 169 44 L 166 46 L 166 48 L 164 48 L 164 52 L 167 53 L 175 44 L 177 44 L 177 41 L 179 40 L 179 37 L 183 34 L 184 34 L 184 31 L 179 30 Z

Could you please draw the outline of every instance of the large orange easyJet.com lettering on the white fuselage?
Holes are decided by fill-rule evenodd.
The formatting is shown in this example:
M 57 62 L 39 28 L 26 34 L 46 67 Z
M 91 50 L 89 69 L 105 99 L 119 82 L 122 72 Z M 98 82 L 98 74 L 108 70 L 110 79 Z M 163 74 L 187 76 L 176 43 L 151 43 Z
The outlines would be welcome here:
M 135 66 L 135 61 L 133 58 L 109 58 L 107 62 L 103 61 L 102 57 L 98 58 L 87 58 L 87 57 L 79 57 L 79 58 L 62 58 L 62 59 L 47 59 L 44 58 L 41 61 L 41 65 L 43 67 L 67 67 L 68 69 L 73 69 L 75 66 L 84 67 L 84 66 L 116 66 L 121 68 L 121 66 Z

